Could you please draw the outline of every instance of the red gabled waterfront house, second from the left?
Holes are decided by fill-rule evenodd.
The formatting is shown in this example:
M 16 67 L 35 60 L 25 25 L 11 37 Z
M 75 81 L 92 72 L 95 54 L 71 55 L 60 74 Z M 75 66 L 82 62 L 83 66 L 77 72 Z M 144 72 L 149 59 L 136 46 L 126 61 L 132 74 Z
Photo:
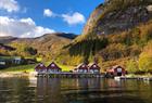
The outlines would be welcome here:
M 48 68 L 48 73 L 61 73 L 62 72 L 62 69 L 54 62 L 52 62 L 47 68 Z

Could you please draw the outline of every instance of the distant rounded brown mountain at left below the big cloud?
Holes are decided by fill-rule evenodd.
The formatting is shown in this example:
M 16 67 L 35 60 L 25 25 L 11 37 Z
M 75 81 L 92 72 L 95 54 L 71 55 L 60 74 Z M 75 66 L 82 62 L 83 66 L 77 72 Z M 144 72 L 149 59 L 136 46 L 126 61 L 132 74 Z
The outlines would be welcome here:
M 33 49 L 37 51 L 37 56 L 53 57 L 63 46 L 68 44 L 76 35 L 54 33 L 46 34 L 37 38 L 14 38 L 14 37 L 0 37 L 1 43 L 7 43 L 16 50 L 9 54 L 29 56 L 30 52 L 26 51 Z M 8 53 L 7 53 L 8 54 Z

